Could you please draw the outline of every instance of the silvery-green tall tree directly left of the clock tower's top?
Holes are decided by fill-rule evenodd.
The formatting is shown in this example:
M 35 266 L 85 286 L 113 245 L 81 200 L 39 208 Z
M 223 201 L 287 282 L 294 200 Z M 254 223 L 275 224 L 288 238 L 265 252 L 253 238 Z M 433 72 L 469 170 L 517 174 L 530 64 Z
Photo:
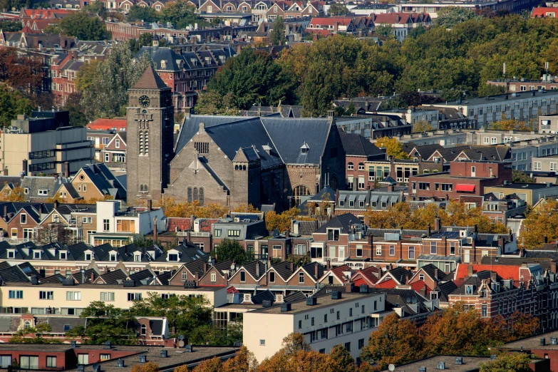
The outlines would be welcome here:
M 138 61 L 133 60 L 129 43 L 123 41 L 113 46 L 104 61 L 78 72 L 81 105 L 88 120 L 125 114 L 128 89 L 133 87 L 151 63 L 148 53 L 140 56 Z

